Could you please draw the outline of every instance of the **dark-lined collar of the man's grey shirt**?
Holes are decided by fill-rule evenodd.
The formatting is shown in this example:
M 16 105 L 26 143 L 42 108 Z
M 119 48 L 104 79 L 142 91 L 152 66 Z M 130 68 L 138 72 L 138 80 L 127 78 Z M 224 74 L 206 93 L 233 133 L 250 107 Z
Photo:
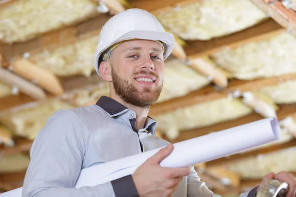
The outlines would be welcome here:
M 106 96 L 100 97 L 96 105 L 101 107 L 110 117 L 118 116 L 129 111 L 126 106 Z M 156 121 L 148 116 L 144 128 L 155 136 Z

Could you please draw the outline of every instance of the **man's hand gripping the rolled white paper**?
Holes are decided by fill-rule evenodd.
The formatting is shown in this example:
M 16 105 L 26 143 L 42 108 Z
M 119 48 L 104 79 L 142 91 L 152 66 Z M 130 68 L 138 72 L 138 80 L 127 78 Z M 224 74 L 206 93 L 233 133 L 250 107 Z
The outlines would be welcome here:
M 180 181 L 190 173 L 190 167 L 161 167 L 159 163 L 173 151 L 172 144 L 148 158 L 132 175 L 140 197 L 170 197 Z

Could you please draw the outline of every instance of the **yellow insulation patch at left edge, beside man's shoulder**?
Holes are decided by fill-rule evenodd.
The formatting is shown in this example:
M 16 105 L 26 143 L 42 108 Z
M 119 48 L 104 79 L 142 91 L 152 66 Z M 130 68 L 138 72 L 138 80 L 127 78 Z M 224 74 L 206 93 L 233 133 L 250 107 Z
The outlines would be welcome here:
M 74 106 L 67 102 L 52 99 L 28 108 L 19 110 L 15 108 L 10 113 L 1 115 L 0 122 L 15 131 L 17 135 L 34 139 L 54 112 L 72 108 Z

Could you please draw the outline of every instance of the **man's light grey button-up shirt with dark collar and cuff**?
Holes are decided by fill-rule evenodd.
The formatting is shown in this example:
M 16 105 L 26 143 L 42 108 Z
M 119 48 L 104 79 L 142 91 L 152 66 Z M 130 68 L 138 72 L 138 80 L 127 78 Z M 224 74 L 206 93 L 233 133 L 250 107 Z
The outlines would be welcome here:
M 155 136 L 155 127 L 148 117 L 137 131 L 135 112 L 109 97 L 55 112 L 32 145 L 22 197 L 137 197 L 131 175 L 94 187 L 74 186 L 82 168 L 168 145 Z M 255 191 L 241 197 L 255 197 Z M 220 197 L 200 181 L 193 167 L 173 196 Z

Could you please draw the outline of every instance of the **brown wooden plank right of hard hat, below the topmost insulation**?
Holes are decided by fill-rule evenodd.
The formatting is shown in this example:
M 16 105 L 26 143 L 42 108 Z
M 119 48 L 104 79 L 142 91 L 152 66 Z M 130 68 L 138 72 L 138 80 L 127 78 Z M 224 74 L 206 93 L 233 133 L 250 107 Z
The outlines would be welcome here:
M 283 31 L 286 30 L 277 22 L 272 19 L 267 19 L 258 25 L 230 35 L 216 37 L 205 41 L 186 41 L 187 47 L 184 47 L 184 49 L 187 56 L 192 56 L 194 59 L 217 53 L 225 48 L 235 48 L 252 41 L 268 39 Z

